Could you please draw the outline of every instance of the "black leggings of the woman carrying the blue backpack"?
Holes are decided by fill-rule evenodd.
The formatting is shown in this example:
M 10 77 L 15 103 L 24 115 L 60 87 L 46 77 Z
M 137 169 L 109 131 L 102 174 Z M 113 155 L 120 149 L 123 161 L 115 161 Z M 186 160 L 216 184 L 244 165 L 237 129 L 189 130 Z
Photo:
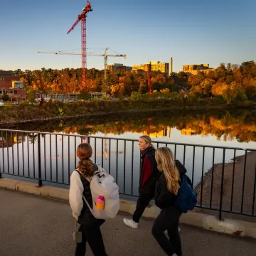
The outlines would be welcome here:
M 182 255 L 181 238 L 178 233 L 180 217 L 181 212 L 176 207 L 162 209 L 152 227 L 152 235 L 169 256 L 174 253 L 178 256 Z M 168 231 L 169 240 L 164 235 L 165 230 Z

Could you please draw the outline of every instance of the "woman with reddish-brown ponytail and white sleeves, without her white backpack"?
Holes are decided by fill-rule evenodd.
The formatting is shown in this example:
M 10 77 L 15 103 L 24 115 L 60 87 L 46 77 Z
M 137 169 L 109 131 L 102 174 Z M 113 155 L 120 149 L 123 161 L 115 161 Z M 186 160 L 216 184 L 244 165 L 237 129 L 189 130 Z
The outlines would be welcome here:
M 107 256 L 100 231 L 100 226 L 105 220 L 95 218 L 91 212 L 93 201 L 90 179 L 95 175 L 98 166 L 90 160 L 92 156 L 90 144 L 80 144 L 77 148 L 77 156 L 80 161 L 78 162 L 78 169 L 73 171 L 70 177 L 69 195 L 73 217 L 80 224 L 78 233 L 82 235 L 82 239 L 77 242 L 75 256 L 85 256 L 86 242 L 90 245 L 95 256 Z M 90 207 L 87 206 L 87 203 Z

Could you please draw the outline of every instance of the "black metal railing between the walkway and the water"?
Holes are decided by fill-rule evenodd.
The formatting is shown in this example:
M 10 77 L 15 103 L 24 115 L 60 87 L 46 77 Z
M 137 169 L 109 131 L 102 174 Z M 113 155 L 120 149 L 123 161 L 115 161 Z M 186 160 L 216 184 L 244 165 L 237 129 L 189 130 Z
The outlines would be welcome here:
M 94 137 L 0 129 L 0 178 L 16 176 L 38 186 L 68 186 L 81 142 L 92 146 L 92 160 L 116 179 L 122 195 L 138 196 L 140 151 L 137 139 Z M 188 170 L 198 208 L 256 216 L 256 149 L 153 142 L 169 146 Z

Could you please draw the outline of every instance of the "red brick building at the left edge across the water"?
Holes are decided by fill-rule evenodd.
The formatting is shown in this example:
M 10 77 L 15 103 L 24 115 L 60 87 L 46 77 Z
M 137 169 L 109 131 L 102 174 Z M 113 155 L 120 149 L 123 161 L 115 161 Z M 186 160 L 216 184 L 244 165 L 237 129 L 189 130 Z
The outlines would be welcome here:
M 11 100 L 26 100 L 26 89 L 18 75 L 12 75 L 9 71 L 0 70 L 0 98 L 8 94 Z

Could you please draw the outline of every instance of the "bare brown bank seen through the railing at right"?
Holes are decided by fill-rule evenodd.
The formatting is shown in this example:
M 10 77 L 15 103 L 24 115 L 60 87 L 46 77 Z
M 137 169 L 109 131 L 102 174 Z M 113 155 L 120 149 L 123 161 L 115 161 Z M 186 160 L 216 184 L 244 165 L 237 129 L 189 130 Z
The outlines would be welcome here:
M 220 208 L 221 183 L 223 179 L 223 200 L 222 209 L 227 211 L 234 211 L 237 213 L 252 214 L 252 207 L 254 206 L 254 216 L 256 217 L 256 151 L 247 152 L 246 166 L 245 154 L 235 157 L 231 163 L 215 164 L 202 179 L 199 181 L 194 191 L 198 193 L 198 204 L 212 208 Z M 234 160 L 234 159 L 232 159 Z M 222 178 L 223 173 L 223 178 Z M 245 176 L 244 176 L 245 174 Z M 213 178 L 213 181 L 212 181 Z M 201 188 L 203 193 L 201 195 Z M 212 194 L 212 201 L 210 202 L 210 195 Z M 254 202 L 253 202 L 254 201 Z M 218 210 L 196 209 L 196 212 L 207 213 L 218 216 Z M 230 218 L 231 213 L 223 213 L 223 218 Z M 234 214 L 233 214 L 234 215 Z M 234 217 L 233 217 L 234 218 Z M 240 220 L 250 220 L 256 222 L 256 218 L 248 215 L 236 215 L 235 218 Z

